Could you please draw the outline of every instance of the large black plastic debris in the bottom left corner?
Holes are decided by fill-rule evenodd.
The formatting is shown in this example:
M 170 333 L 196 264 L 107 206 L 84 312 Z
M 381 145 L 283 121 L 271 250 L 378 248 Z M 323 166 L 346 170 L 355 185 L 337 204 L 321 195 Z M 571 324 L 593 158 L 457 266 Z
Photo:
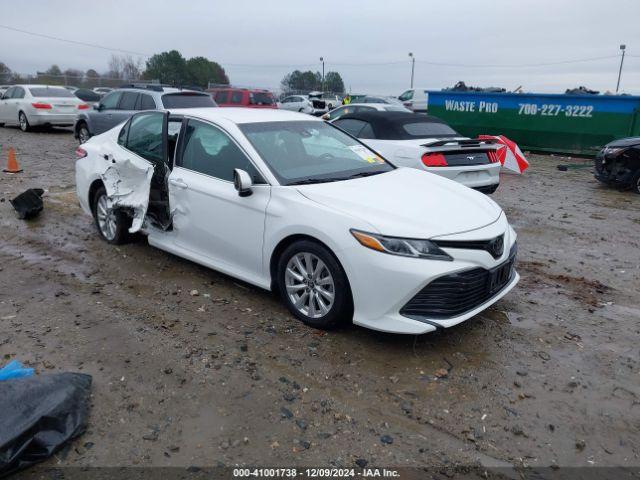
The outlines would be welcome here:
M 18 378 L 0 387 L 0 477 L 41 462 L 87 425 L 91 375 Z

